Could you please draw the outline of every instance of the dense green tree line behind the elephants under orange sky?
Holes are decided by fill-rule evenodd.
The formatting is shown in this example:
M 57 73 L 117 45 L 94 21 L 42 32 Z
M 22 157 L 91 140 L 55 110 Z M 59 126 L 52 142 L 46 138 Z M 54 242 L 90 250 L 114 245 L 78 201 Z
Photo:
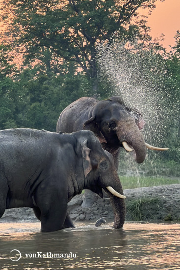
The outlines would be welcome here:
M 151 84 L 158 82 L 156 91 L 164 91 L 167 96 L 160 103 L 161 108 L 172 106 L 173 114 L 172 120 L 165 121 L 164 142 L 171 148 L 165 157 L 179 161 L 180 33 L 177 31 L 170 53 L 152 40 L 146 18 L 139 15 L 138 8 L 151 11 L 155 2 L 5 0 L 1 9 L 4 29 L 0 33 L 0 129 L 55 131 L 60 112 L 74 100 L 82 96 L 103 99 L 120 93 L 98 67 L 97 50 L 99 45 L 110 48 L 118 39 L 132 61 L 139 54 L 143 62 L 149 62 L 151 68 L 142 76 Z M 133 51 L 134 39 L 138 50 L 136 47 Z M 147 58 L 149 54 L 153 57 Z M 157 59 L 163 64 L 161 73 Z M 138 64 L 143 68 L 141 61 Z

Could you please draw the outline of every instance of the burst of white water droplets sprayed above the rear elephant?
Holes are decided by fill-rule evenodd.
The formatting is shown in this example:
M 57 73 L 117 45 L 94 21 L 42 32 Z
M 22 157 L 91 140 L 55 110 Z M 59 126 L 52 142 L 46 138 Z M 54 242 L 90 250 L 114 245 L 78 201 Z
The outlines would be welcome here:
M 176 98 L 173 104 L 173 96 L 166 90 L 166 60 L 153 50 L 140 48 L 136 41 L 125 43 L 117 36 L 111 41 L 111 44 L 100 44 L 97 49 L 100 79 L 112 89 L 111 95 L 119 95 L 126 106 L 135 107 L 142 113 L 146 122 L 145 141 L 168 147 L 168 130 L 179 115 L 179 107 Z M 160 154 L 148 151 L 148 156 Z M 132 160 L 129 161 L 129 154 L 125 154 L 125 159 L 130 162 L 130 173 Z M 150 162 L 153 166 L 153 160 Z M 141 171 L 144 165 L 133 166 L 138 166 L 135 170 Z

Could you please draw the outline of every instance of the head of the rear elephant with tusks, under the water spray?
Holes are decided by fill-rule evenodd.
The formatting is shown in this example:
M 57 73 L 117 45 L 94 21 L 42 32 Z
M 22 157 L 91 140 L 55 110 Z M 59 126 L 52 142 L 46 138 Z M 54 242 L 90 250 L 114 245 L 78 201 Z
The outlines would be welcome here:
M 167 150 L 145 143 L 140 132 L 144 124 L 145 121 L 137 109 L 126 107 L 120 97 L 114 96 L 98 102 L 93 108 L 92 116 L 84 122 L 83 127 L 92 130 L 100 142 L 107 144 L 109 148 L 113 146 L 113 149 L 118 149 L 123 146 L 128 152 L 134 150 L 136 162 L 142 163 L 146 156 L 146 148 Z

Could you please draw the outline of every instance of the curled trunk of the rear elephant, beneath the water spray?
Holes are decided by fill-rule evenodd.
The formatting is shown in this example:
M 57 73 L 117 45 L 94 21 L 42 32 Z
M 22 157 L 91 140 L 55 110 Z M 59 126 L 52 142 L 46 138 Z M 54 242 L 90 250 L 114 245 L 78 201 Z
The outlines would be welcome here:
M 125 126 L 125 125 L 124 125 Z M 118 135 L 120 134 L 120 136 Z M 127 142 L 134 149 L 134 158 L 137 163 L 142 163 L 146 157 L 146 145 L 142 133 L 134 123 L 132 128 L 131 123 L 122 130 L 120 127 L 117 131 L 118 139 L 120 143 Z

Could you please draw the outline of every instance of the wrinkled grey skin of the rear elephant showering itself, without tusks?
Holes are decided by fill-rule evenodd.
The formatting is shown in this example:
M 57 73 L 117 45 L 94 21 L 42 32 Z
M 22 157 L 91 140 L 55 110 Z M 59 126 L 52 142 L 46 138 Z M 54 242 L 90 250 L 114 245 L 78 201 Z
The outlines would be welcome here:
M 128 108 L 118 96 L 98 101 L 90 97 L 82 97 L 60 114 L 57 132 L 71 133 L 88 129 L 95 133 L 103 149 L 110 152 L 118 170 L 119 152 L 122 142 L 126 141 L 134 148 L 134 158 L 142 163 L 146 156 L 146 146 L 140 130 L 145 122 L 135 108 Z M 85 193 L 83 207 L 93 204 L 94 196 Z

